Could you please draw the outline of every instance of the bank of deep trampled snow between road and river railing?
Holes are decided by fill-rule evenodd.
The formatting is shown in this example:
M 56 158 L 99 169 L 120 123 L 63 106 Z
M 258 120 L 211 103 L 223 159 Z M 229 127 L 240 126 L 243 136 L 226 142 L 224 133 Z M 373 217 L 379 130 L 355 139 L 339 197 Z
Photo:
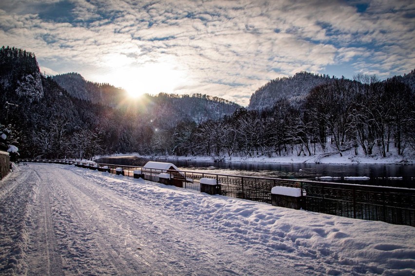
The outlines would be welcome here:
M 85 173 L 88 172 L 82 172 Z M 234 250 L 242 249 L 249 257 L 245 261 L 251 260 L 255 265 L 251 264 L 250 270 L 239 270 L 241 275 L 271 275 L 275 271 L 282 275 L 411 275 L 415 271 L 415 243 L 408 242 L 414 240 L 415 227 L 273 207 L 166 188 L 145 180 L 124 180 L 120 185 L 116 179 L 113 183 L 109 180 L 112 175 L 89 175 L 105 189 L 145 204 L 154 219 L 163 213 L 172 225 L 176 220 L 189 225 L 191 230 L 182 229 L 182 233 L 197 229 L 199 235 L 214 233 L 215 238 L 204 239 L 207 245 L 210 242 L 215 246 L 219 238 L 222 248 L 235 245 Z M 187 241 L 171 246 L 183 243 Z M 286 267 L 296 272 L 289 273 Z M 232 269 L 240 268 L 241 263 L 235 260 Z

